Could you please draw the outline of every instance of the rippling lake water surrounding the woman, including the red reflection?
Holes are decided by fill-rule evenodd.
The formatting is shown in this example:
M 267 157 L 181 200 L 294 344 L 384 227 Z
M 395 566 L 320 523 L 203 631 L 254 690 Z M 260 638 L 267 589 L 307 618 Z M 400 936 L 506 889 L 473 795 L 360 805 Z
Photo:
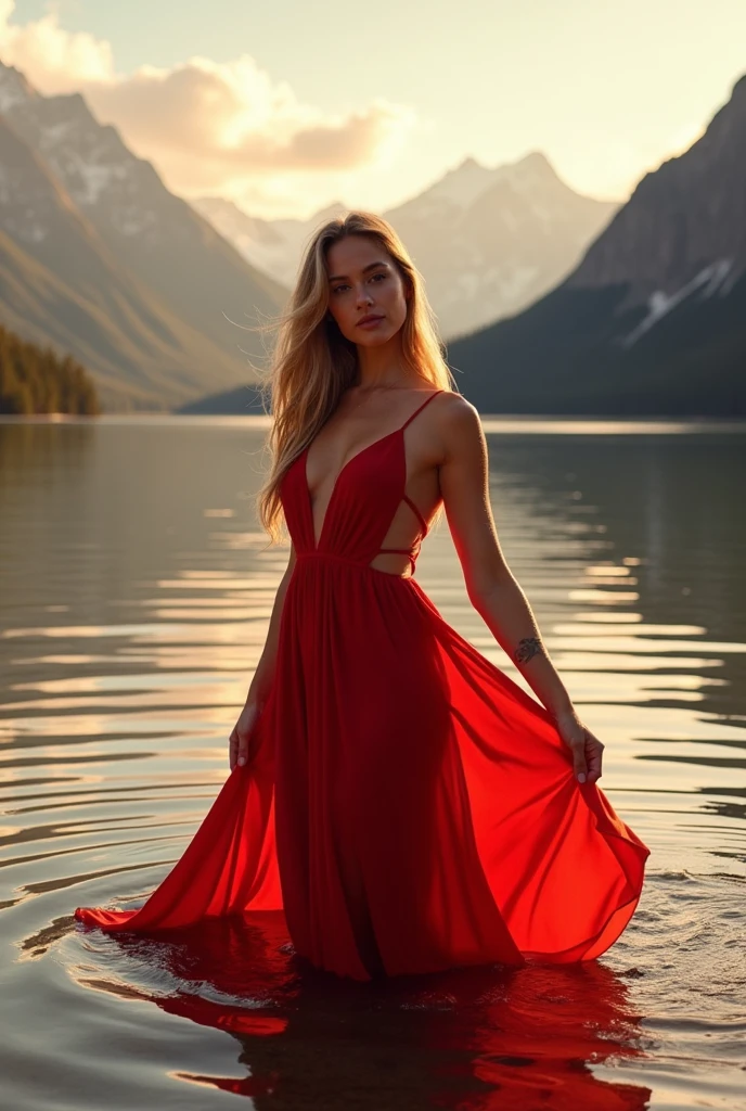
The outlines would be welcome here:
M 361 985 L 266 915 L 168 941 L 138 905 L 226 774 L 286 553 L 263 422 L 0 423 L 0 1107 L 746 1108 L 746 430 L 487 421 L 508 562 L 652 849 L 599 960 Z M 441 521 L 417 578 L 470 608 Z M 582 867 L 582 862 L 581 862 Z

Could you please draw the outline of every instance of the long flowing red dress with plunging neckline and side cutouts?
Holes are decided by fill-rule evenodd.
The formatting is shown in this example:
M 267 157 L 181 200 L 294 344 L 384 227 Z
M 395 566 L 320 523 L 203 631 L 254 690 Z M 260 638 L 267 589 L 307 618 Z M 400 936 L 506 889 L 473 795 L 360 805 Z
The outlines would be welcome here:
M 404 431 L 339 474 L 319 542 L 306 451 L 281 497 L 296 552 L 245 767 L 137 911 L 104 930 L 284 910 L 296 952 L 356 979 L 603 953 L 649 849 L 579 784 L 548 712 L 438 613 L 370 567 L 407 498 Z M 410 550 L 412 564 L 419 550 Z

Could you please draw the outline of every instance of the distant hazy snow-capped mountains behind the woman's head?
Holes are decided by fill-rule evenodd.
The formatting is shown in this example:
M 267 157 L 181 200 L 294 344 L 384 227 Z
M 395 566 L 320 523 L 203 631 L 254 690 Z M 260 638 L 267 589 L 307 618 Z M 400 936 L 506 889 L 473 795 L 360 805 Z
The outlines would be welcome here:
M 290 286 L 311 232 L 346 211 L 260 220 L 219 198 L 192 202 L 254 266 Z M 530 304 L 564 278 L 617 206 L 581 197 L 543 154 L 495 169 L 467 158 L 412 200 L 383 213 L 427 283 L 444 337 Z

